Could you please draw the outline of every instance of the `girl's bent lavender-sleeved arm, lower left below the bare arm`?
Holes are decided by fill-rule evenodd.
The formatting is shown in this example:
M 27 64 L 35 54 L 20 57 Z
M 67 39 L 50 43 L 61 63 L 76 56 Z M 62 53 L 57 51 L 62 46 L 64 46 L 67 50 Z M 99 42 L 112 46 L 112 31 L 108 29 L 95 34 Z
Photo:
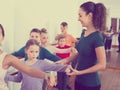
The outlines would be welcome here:
M 23 79 L 22 73 L 18 72 L 16 75 L 6 74 L 5 81 L 21 82 Z

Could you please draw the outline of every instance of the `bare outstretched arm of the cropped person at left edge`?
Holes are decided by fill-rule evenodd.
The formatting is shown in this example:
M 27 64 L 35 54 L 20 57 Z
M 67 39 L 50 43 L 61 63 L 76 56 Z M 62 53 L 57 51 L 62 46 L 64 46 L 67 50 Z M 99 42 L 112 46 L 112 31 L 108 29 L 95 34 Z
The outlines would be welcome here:
M 45 73 L 37 68 L 32 68 L 24 63 L 20 62 L 19 59 L 12 55 L 6 55 L 3 60 L 3 68 L 8 69 L 10 66 L 18 69 L 19 71 L 26 73 L 32 77 L 44 78 L 46 79 Z

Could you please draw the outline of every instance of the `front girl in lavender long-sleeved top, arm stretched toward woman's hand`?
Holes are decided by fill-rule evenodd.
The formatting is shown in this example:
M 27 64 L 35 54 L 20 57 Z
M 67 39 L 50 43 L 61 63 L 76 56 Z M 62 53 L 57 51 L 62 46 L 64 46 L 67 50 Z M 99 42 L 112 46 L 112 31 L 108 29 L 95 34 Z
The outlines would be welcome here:
M 51 64 L 47 60 L 38 60 L 37 57 L 39 55 L 40 46 L 36 40 L 30 39 L 26 43 L 25 52 L 27 54 L 28 60 L 24 63 L 33 68 L 38 68 L 42 71 L 60 71 L 63 72 L 66 69 L 66 65 L 60 64 Z M 22 86 L 21 90 L 42 90 L 44 79 L 34 78 L 28 76 L 23 72 L 19 72 L 17 75 L 13 76 L 10 74 L 6 75 L 5 80 L 21 82 Z

